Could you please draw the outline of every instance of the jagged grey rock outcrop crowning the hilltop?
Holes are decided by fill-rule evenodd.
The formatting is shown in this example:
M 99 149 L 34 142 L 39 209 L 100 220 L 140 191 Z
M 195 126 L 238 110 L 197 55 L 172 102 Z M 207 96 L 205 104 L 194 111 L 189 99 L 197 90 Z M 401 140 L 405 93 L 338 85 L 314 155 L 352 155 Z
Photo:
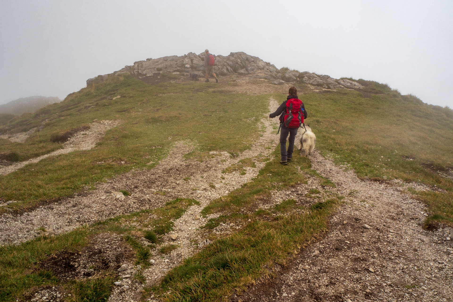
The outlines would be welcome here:
M 297 70 L 281 72 L 274 64 L 264 62 L 260 58 L 244 52 L 230 53 L 228 56 L 217 55 L 215 58 L 214 72 L 220 76 L 233 74 L 249 75 L 252 78 L 272 81 L 272 84 L 275 85 L 302 81 L 306 84 L 316 85 L 326 89 L 358 89 L 362 87 L 355 81 L 348 79 L 337 80 L 328 75 L 318 76 L 311 72 L 299 72 Z M 144 61 L 134 62 L 134 65 L 127 65 L 112 74 L 88 79 L 87 85 L 95 79 L 102 80 L 109 75 L 125 72 L 140 78 L 159 77 L 164 72 L 185 76 L 190 73 L 196 73 L 199 77 L 203 77 L 204 69 L 204 52 L 200 54 L 188 53 L 183 56 L 167 56 L 157 59 L 148 58 Z

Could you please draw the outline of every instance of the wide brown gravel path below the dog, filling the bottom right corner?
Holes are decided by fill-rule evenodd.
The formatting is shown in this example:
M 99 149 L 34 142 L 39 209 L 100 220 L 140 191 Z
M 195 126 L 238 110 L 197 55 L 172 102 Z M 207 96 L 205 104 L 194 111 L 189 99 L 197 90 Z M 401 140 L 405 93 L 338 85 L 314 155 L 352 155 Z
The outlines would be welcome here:
M 427 207 L 405 187 L 311 160 L 345 204 L 322 240 L 231 301 L 452 301 L 452 230 L 423 230 Z

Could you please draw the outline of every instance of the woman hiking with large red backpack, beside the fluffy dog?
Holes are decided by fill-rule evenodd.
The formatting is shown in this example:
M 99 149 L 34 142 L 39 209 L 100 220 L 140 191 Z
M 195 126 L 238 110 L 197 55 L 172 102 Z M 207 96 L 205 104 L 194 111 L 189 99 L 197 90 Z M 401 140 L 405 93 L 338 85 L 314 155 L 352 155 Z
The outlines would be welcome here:
M 274 118 L 280 115 L 280 154 L 282 165 L 287 165 L 293 158 L 294 140 L 296 139 L 297 130 L 304 125 L 304 119 L 307 118 L 307 110 L 304 103 L 297 96 L 297 88 L 292 86 L 289 88 L 286 101 L 281 103 L 279 108 L 274 113 L 269 115 L 269 118 Z M 280 128 L 279 128 L 280 130 Z M 278 132 L 277 132 L 278 133 Z M 286 150 L 286 138 L 289 134 L 289 146 Z

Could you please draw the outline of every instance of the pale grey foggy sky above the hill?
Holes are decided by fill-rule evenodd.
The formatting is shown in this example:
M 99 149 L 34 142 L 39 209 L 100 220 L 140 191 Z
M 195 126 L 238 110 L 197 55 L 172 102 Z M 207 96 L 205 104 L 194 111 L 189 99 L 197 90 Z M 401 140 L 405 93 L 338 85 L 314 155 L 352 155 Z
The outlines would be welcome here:
M 0 0 L 0 104 L 63 99 L 135 61 L 208 48 L 453 108 L 452 16 L 451 0 Z

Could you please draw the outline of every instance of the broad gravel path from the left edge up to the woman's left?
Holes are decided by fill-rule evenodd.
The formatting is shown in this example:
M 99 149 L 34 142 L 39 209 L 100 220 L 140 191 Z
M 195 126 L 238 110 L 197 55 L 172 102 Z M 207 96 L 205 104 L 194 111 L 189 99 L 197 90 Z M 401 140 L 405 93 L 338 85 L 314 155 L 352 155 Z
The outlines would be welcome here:
M 275 110 L 277 106 L 277 102 L 271 99 L 270 110 Z M 271 134 L 271 131 L 272 123 L 278 124 L 278 120 L 270 120 L 263 116 L 262 122 L 265 124 L 263 136 L 252 145 L 251 149 L 244 151 L 239 157 L 231 158 L 226 152 L 214 152 L 215 156 L 203 163 L 184 160 L 184 154 L 190 152 L 194 146 L 191 142 L 179 141 L 167 158 L 153 169 L 132 171 L 114 177 L 106 183 L 97 183 L 93 191 L 65 198 L 48 206 L 40 206 L 34 211 L 19 216 L 10 214 L 0 216 L 0 229 L 3 230 L 0 233 L 0 244 L 19 244 L 30 240 L 41 233 L 38 228 L 44 228 L 49 234 L 61 234 L 83 224 L 91 224 L 143 209 L 157 208 L 175 198 L 196 199 L 200 202 L 200 206 L 189 209 L 181 217 L 181 221 L 184 221 L 190 215 L 188 213 L 201 211 L 202 207 L 213 199 L 240 187 L 257 175 L 265 163 L 257 162 L 256 168 L 246 168 L 245 175 L 237 172 L 222 174 L 222 170 L 242 158 L 265 156 L 270 153 L 271 149 L 265 147 L 277 141 L 276 135 Z M 221 176 L 225 179 L 222 180 Z M 184 181 L 185 177 L 190 177 L 190 180 Z M 215 188 L 210 187 L 209 183 L 212 183 Z M 131 196 L 124 200 L 112 197 L 111 192 L 118 190 L 127 190 Z M 205 220 L 199 220 L 191 227 L 195 229 Z M 184 224 L 177 222 L 176 225 L 176 230 L 182 233 Z M 193 233 L 190 230 L 186 231 Z

